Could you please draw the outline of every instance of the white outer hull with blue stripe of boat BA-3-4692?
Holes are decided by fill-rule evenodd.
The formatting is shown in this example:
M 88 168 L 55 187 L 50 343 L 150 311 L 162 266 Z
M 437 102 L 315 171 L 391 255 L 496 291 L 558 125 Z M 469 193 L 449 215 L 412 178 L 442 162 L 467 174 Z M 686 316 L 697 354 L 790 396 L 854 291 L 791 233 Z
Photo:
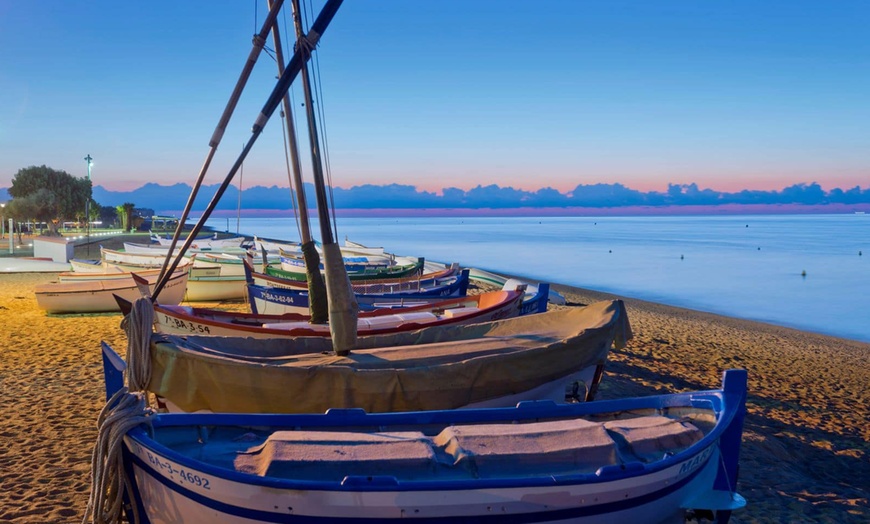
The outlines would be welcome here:
M 439 522 L 657 523 L 675 518 L 703 486 L 712 484 L 719 453 L 710 446 L 666 470 L 595 484 L 526 486 L 456 491 L 342 491 L 280 489 L 221 478 L 173 462 L 131 438 L 133 471 L 152 524 L 250 524 L 294 518 L 371 522 L 438 519 Z M 241 475 L 240 475 L 241 476 Z M 266 484 L 264 482 L 263 484 Z M 562 518 L 564 516 L 564 518 Z M 428 522 L 431 522 L 428 521 Z

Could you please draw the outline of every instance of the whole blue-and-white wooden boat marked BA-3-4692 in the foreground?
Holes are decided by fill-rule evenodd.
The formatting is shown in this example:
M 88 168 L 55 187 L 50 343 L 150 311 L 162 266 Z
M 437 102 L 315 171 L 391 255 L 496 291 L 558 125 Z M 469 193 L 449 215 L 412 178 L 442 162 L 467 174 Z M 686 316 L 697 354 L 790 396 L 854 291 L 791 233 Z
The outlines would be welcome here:
M 123 363 L 104 362 L 122 405 Z M 709 391 L 410 413 L 150 414 L 132 397 L 118 476 L 152 524 L 725 523 L 746 504 L 745 401 L 744 370 Z

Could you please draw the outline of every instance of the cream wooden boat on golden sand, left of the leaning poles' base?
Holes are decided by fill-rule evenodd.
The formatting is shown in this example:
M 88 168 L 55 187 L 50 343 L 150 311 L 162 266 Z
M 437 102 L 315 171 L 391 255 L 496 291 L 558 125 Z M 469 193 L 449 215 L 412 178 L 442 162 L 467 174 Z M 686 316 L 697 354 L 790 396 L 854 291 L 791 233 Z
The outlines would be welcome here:
M 176 269 L 167 281 L 161 302 L 179 304 L 184 299 L 187 287 L 187 267 Z M 144 277 L 151 289 L 157 282 L 157 273 Z M 36 304 L 48 313 L 96 313 L 120 311 L 114 295 L 130 302 L 142 294 L 130 273 L 123 278 L 111 275 L 103 279 L 85 279 L 75 282 L 52 282 L 38 284 L 34 288 Z

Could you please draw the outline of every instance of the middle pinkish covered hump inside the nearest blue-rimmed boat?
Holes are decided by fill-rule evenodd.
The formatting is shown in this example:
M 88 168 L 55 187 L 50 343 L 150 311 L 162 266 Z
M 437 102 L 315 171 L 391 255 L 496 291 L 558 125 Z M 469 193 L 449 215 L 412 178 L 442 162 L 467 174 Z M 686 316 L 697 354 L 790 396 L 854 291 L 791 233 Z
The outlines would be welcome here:
M 617 446 L 599 422 L 451 426 L 434 439 L 477 478 L 593 473 L 617 464 Z

